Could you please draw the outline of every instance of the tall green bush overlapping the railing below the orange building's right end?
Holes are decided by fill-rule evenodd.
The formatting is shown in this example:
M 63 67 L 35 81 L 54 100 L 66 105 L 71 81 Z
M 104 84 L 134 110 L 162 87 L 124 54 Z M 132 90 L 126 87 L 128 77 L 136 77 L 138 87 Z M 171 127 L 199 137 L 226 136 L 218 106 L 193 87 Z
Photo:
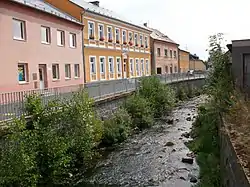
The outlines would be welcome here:
M 156 76 L 142 79 L 139 94 L 149 101 L 155 117 L 169 112 L 175 103 L 174 91 Z

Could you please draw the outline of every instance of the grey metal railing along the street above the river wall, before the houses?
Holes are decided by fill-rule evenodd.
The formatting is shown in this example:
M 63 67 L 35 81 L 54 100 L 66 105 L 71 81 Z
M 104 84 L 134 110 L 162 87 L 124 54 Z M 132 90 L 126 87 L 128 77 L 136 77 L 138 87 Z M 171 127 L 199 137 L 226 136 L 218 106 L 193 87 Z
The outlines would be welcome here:
M 186 73 L 179 73 L 156 76 L 162 83 L 169 84 L 173 82 L 205 78 L 206 74 L 188 75 Z M 25 115 L 25 98 L 32 94 L 41 96 L 42 103 L 46 105 L 49 101 L 55 99 L 64 101 L 70 99 L 73 92 L 76 92 L 84 87 L 91 98 L 94 98 L 95 100 L 101 100 L 135 91 L 139 87 L 140 78 L 142 77 L 92 82 L 86 83 L 85 85 L 64 86 L 48 88 L 44 90 L 0 93 L 0 122 Z

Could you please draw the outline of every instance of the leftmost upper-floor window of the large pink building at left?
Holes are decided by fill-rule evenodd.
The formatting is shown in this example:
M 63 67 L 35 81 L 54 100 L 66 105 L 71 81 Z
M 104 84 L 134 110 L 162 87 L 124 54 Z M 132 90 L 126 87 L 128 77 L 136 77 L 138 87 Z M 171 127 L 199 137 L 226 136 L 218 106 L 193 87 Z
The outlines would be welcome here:
M 17 40 L 26 39 L 25 22 L 13 19 L 13 38 Z

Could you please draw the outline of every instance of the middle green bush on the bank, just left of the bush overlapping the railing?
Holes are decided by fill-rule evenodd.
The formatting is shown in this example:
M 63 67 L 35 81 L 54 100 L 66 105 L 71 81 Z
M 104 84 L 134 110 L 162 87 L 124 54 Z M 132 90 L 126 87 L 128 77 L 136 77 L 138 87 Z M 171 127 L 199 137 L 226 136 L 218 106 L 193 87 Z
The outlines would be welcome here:
M 128 98 L 125 108 L 132 117 L 133 127 L 144 129 L 153 125 L 153 111 L 150 103 L 145 98 L 134 95 Z

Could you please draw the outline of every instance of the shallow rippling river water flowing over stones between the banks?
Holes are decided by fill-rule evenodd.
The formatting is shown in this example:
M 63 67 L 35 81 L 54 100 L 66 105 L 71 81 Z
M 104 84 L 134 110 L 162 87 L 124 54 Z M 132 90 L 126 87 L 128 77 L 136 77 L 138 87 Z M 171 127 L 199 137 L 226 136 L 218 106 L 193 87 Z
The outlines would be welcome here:
M 151 129 L 130 137 L 97 164 L 88 183 L 79 186 L 191 187 L 190 179 L 198 179 L 199 167 L 195 159 L 193 164 L 182 162 L 190 153 L 185 146 L 189 139 L 183 134 L 190 132 L 204 101 L 200 96 L 184 102 Z M 168 119 L 173 119 L 173 124 Z

